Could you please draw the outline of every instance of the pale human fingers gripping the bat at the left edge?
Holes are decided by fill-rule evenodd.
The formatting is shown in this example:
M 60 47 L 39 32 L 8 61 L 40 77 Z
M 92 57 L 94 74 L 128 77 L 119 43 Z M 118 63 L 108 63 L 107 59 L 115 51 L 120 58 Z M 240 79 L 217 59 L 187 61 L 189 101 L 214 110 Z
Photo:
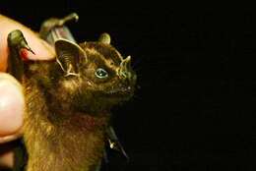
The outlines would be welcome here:
M 26 28 L 1 14 L 0 26 L 0 166 L 12 167 L 12 149 L 1 152 L 1 147 L 22 136 L 21 128 L 23 126 L 25 101 L 23 87 L 15 78 L 5 73 L 9 54 L 8 33 L 14 29 L 23 31 L 28 44 L 34 52 L 34 54 L 27 53 L 29 60 L 50 60 L 54 57 L 54 50 L 46 42 L 38 38 L 30 28 Z

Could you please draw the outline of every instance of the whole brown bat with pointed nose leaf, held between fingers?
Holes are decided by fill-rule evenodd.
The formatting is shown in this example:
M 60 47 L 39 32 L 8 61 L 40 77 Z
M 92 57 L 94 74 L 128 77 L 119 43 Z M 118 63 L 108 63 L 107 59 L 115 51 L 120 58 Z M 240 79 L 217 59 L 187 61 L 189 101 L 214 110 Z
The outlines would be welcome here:
M 93 171 L 104 143 L 123 150 L 111 126 L 110 109 L 134 93 L 131 58 L 123 58 L 103 33 L 97 41 L 77 44 L 65 22 L 71 14 L 43 23 L 40 36 L 55 48 L 51 61 L 24 61 L 32 51 L 20 30 L 10 32 L 9 73 L 24 86 L 24 142 L 27 171 Z M 124 151 L 123 151 L 124 152 Z

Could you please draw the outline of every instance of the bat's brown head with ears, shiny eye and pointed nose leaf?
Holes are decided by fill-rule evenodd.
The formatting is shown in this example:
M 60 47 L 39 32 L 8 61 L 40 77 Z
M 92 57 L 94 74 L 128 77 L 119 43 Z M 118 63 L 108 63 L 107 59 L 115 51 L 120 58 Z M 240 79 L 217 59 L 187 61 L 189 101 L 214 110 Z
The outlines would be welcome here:
M 56 68 L 51 98 L 61 108 L 100 113 L 128 100 L 134 93 L 136 74 L 131 57 L 123 58 L 103 33 L 98 41 L 76 44 L 55 42 Z

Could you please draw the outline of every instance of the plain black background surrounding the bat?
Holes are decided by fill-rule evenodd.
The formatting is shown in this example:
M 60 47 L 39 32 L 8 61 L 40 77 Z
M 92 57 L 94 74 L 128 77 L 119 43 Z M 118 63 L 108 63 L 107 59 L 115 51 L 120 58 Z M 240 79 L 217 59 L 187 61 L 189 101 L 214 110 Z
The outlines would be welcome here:
M 114 110 L 131 161 L 110 157 L 112 170 L 254 169 L 255 10 L 53 2 L 9 1 L 0 13 L 38 30 L 77 12 L 79 23 L 69 26 L 76 39 L 110 33 L 138 73 L 135 97 Z

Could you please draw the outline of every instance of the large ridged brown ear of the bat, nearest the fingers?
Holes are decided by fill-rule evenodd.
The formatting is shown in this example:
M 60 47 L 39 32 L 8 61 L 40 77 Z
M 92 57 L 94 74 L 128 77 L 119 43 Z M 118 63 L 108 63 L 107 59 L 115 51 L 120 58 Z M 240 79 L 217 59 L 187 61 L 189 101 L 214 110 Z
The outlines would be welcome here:
M 58 39 L 55 42 L 56 60 L 66 76 L 77 75 L 79 63 L 86 59 L 85 51 L 75 42 Z

